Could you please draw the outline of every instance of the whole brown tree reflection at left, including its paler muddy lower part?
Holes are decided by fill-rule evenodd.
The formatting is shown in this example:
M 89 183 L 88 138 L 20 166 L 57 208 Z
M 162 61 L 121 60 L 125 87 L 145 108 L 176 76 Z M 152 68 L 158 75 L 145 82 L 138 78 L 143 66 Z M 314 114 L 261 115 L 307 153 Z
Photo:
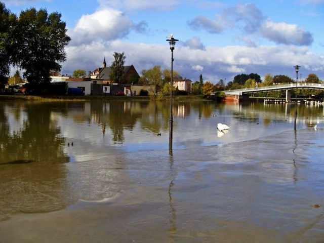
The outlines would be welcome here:
M 5 105 L 9 107 L 0 103 L 0 220 L 16 212 L 62 209 L 71 202 L 60 163 L 69 158 L 63 151 L 65 139 L 51 120 L 52 108 L 15 102 L 13 117 L 18 119 L 23 110 L 25 114 L 22 127 L 11 133 Z

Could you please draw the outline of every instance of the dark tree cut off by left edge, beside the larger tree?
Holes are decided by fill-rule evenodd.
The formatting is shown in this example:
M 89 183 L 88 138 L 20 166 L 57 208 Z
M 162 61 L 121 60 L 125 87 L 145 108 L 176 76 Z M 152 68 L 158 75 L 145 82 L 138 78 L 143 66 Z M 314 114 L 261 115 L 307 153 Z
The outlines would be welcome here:
M 0 2 L 0 88 L 8 82 L 14 44 L 11 30 L 16 18 L 16 15 L 11 14 L 5 4 Z

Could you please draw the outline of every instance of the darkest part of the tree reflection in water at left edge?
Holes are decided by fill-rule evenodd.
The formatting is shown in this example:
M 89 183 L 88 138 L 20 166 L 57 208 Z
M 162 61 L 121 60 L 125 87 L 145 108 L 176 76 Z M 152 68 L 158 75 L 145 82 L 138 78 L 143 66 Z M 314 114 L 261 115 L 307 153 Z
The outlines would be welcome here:
M 23 126 L 13 134 L 9 131 L 8 118 L 1 112 L 0 163 L 22 159 L 37 163 L 68 162 L 68 157 L 63 151 L 65 139 L 51 120 L 52 111 L 49 106 L 39 103 L 26 105 L 26 108 L 27 116 Z

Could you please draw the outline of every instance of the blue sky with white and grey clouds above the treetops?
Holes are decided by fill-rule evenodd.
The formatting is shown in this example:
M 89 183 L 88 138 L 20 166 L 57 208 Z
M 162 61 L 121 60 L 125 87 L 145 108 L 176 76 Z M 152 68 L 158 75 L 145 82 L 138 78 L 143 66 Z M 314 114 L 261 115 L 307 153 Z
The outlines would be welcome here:
M 124 52 L 125 65 L 171 69 L 167 36 L 179 39 L 173 69 L 217 84 L 241 73 L 315 73 L 324 80 L 324 0 L 0 0 L 11 12 L 59 12 L 71 42 L 61 74 L 87 72 Z M 15 71 L 15 70 L 14 70 Z

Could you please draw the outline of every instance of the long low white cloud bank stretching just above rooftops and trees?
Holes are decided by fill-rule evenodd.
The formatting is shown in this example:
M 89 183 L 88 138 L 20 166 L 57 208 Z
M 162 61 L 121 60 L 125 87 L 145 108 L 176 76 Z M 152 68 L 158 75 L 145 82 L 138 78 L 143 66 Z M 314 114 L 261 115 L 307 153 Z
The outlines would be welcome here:
M 103 57 L 107 64 L 113 61 L 114 52 L 125 52 L 126 65 L 133 64 L 140 73 L 143 69 L 160 65 L 171 68 L 169 47 L 166 45 L 138 44 L 126 41 L 93 42 L 89 45 L 68 47 L 66 73 L 75 69 L 94 70 L 102 65 Z M 294 77 L 293 66 L 302 66 L 304 76 L 316 72 L 324 77 L 324 56 L 309 52 L 307 47 L 294 46 L 228 46 L 223 48 L 206 47 L 206 50 L 190 49 L 179 46 L 174 51 L 173 67 L 183 76 L 195 81 L 203 74 L 205 81 L 216 84 L 219 79 L 227 82 L 240 73 L 258 73 L 263 77 L 284 74 Z

